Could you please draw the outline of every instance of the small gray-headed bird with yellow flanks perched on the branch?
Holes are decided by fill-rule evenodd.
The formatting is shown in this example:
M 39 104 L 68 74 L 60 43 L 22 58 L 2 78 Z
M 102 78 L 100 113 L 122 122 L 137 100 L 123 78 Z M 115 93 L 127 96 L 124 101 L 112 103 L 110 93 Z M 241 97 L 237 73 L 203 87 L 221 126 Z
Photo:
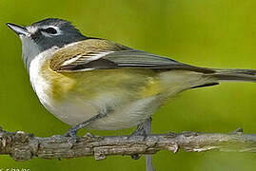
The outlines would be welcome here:
M 221 82 L 256 82 L 255 69 L 191 66 L 169 57 L 83 35 L 69 21 L 47 18 L 21 27 L 30 85 L 50 113 L 81 128 L 116 130 L 143 125 L 167 99 Z

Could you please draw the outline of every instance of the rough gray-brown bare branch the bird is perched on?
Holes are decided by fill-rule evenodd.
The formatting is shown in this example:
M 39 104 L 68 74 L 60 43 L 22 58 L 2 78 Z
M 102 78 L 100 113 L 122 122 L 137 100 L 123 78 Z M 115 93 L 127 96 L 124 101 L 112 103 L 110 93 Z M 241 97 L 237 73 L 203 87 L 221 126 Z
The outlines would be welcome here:
M 7 132 L 0 129 L 0 154 L 10 155 L 15 161 L 33 158 L 60 159 L 94 156 L 104 160 L 111 155 L 155 154 L 160 150 L 178 152 L 219 150 L 225 152 L 256 152 L 256 134 L 234 132 L 199 133 L 182 132 L 144 136 L 93 136 L 86 134 L 77 141 L 56 135 L 35 137 L 22 131 Z

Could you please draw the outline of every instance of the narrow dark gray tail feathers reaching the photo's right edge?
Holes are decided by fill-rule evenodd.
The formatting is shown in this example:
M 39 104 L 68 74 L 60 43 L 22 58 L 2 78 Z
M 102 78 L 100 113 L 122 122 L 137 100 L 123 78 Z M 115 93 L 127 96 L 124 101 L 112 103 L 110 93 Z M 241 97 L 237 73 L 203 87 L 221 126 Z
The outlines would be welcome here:
M 214 69 L 216 72 L 206 74 L 218 81 L 256 82 L 256 69 Z

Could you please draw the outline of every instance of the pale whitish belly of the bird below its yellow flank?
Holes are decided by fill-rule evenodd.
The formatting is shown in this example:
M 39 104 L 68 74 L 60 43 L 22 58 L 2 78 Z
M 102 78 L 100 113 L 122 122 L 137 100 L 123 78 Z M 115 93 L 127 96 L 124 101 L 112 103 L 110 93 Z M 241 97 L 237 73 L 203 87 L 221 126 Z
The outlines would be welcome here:
M 44 102 L 42 102 L 42 104 L 44 104 L 45 107 L 59 120 L 70 125 L 83 123 L 99 114 L 99 111 L 108 111 L 109 107 L 105 105 L 96 106 L 93 101 L 77 104 L 75 100 L 62 102 L 61 104 L 54 106 Z M 143 123 L 155 112 L 158 103 L 155 102 L 154 97 L 151 97 L 110 107 L 111 111 L 106 113 L 104 118 L 90 123 L 86 128 L 115 130 L 138 125 L 139 123 Z

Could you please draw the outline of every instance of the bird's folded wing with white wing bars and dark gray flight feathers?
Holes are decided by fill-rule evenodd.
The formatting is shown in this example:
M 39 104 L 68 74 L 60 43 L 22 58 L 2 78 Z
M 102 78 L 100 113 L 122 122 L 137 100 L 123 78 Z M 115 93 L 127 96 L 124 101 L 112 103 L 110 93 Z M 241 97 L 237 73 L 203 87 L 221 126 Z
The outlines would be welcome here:
M 78 47 L 75 50 L 67 50 L 66 47 L 64 49 L 54 54 L 51 60 L 50 67 L 57 72 L 109 68 L 184 69 L 205 73 L 214 72 L 209 68 L 189 66 L 167 57 L 128 47 L 89 47 L 87 49 Z

